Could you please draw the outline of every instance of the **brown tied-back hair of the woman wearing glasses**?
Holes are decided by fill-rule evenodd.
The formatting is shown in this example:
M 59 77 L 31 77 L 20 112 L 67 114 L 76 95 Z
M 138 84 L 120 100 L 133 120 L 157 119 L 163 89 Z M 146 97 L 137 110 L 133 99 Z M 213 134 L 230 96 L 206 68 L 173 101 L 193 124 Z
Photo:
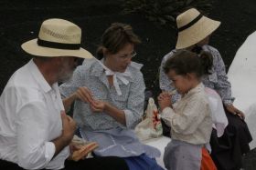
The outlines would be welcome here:
M 138 45 L 141 43 L 140 38 L 133 33 L 131 25 L 122 23 L 113 23 L 107 28 L 101 37 L 101 45 L 97 49 L 97 57 L 103 57 L 103 48 L 105 47 L 108 52 L 116 54 L 124 45 L 133 44 Z

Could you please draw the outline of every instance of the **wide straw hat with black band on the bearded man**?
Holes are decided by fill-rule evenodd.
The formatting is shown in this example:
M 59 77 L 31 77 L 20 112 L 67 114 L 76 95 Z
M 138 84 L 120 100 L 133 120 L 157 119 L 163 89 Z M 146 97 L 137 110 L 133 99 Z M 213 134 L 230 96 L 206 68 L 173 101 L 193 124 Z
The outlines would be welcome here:
M 87 50 L 80 47 L 81 29 L 64 19 L 48 19 L 40 27 L 36 39 L 21 45 L 30 55 L 37 56 L 76 56 L 91 58 Z

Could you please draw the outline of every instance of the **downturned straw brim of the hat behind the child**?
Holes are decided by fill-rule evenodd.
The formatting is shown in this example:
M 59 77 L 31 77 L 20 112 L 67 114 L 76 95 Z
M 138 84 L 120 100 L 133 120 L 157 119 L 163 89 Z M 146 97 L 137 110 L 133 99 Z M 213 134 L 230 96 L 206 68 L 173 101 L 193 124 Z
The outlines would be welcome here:
M 176 49 L 183 49 L 191 45 L 196 45 L 208 35 L 211 35 L 219 25 L 219 21 L 203 16 L 195 25 L 178 33 Z

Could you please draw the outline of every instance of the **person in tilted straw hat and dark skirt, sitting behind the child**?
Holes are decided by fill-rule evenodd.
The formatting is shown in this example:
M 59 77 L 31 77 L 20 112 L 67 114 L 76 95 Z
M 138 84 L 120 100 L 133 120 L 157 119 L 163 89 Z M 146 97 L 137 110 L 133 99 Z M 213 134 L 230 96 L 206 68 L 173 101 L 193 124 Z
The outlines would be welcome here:
M 165 75 L 163 67 L 165 61 L 172 57 L 179 49 L 187 49 L 198 55 L 202 51 L 207 51 L 212 55 L 212 68 L 210 75 L 203 76 L 205 86 L 216 90 L 223 102 L 229 125 L 225 129 L 221 138 L 229 140 L 229 144 L 220 144 L 221 138 L 217 136 L 216 130 L 213 130 L 210 145 L 212 147 L 212 158 L 218 169 L 240 168 L 241 154 L 247 153 L 251 134 L 246 123 L 243 121 L 244 114 L 232 105 L 234 97 L 231 96 L 231 85 L 226 75 L 224 62 L 219 51 L 208 45 L 209 36 L 219 27 L 220 22 L 212 20 L 205 15 L 200 14 L 197 9 L 191 8 L 176 17 L 177 41 L 176 49 L 164 56 L 160 66 L 159 85 L 163 91 L 173 91 L 175 89 L 172 82 Z M 172 102 L 175 103 L 180 96 L 176 93 L 172 95 Z M 213 113 L 218 115 L 218 113 Z M 165 129 L 165 128 L 164 128 Z M 222 129 L 224 131 L 224 127 Z M 168 128 L 164 135 L 170 135 Z M 231 139 L 229 135 L 236 136 Z

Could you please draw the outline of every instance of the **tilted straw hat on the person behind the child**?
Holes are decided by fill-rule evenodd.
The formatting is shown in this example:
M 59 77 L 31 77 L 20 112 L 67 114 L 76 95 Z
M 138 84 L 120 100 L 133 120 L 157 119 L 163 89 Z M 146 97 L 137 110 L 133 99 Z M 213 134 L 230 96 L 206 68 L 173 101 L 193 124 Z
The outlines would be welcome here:
M 195 45 L 212 34 L 220 25 L 219 21 L 201 15 L 197 9 L 191 8 L 176 17 L 178 37 L 176 49 Z

